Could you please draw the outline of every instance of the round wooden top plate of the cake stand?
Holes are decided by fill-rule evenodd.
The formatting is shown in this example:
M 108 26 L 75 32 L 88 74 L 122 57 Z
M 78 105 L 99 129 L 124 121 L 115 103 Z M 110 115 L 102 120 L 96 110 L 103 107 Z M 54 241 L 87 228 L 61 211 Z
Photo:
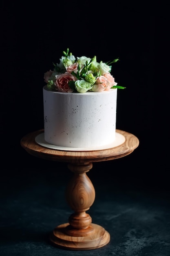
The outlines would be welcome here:
M 114 148 L 93 151 L 71 151 L 45 148 L 36 143 L 35 137 L 44 132 L 43 129 L 31 132 L 21 139 L 21 146 L 31 155 L 59 162 L 101 162 L 124 157 L 139 146 L 139 139 L 130 132 L 116 130 L 125 137 L 124 143 Z

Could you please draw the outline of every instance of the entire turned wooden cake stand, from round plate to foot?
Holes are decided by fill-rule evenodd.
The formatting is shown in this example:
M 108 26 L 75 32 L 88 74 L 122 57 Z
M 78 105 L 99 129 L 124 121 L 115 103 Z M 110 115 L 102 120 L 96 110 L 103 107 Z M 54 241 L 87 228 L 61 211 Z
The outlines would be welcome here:
M 67 162 L 68 169 L 74 175 L 66 189 L 66 200 L 74 213 L 68 222 L 61 224 L 51 232 L 50 240 L 69 250 L 91 250 L 103 247 L 110 241 L 110 234 L 103 227 L 92 223 L 86 213 L 95 200 L 95 189 L 86 175 L 93 167 L 92 162 L 101 162 L 124 157 L 139 146 L 139 139 L 129 132 L 116 130 L 125 137 L 125 141 L 114 148 L 93 151 L 67 151 L 46 148 L 36 143 L 35 138 L 44 130 L 38 130 L 21 139 L 21 146 L 31 155 L 46 160 Z

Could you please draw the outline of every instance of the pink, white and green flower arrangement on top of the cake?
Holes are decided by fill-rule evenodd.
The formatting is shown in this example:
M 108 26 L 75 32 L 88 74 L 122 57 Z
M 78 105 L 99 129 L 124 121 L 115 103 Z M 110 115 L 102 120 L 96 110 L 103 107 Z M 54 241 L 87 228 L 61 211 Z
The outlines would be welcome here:
M 107 63 L 97 62 L 96 56 L 75 58 L 68 48 L 63 54 L 60 63 L 53 63 L 54 69 L 44 73 L 44 81 L 49 90 L 84 93 L 126 88 L 117 85 L 115 78 L 110 74 L 111 64 L 119 61 L 119 58 Z

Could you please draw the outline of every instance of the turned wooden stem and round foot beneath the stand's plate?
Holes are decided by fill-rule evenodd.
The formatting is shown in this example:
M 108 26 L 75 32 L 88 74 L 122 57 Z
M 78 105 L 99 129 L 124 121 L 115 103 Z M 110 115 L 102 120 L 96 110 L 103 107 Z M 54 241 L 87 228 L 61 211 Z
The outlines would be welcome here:
M 66 189 L 66 200 L 74 213 L 68 218 L 68 223 L 53 230 L 50 240 L 55 245 L 70 250 L 91 250 L 110 241 L 110 234 L 93 224 L 91 216 L 86 213 L 95 200 L 94 186 L 86 175 L 92 167 L 90 162 L 68 164 L 74 175 Z

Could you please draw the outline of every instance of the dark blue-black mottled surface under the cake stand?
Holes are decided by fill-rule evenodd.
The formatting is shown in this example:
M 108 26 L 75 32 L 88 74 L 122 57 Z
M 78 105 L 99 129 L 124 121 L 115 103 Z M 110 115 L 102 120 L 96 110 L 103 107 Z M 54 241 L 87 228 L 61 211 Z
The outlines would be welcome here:
M 49 232 L 67 222 L 73 213 L 64 197 L 72 177 L 66 164 L 56 162 L 54 169 L 47 168 L 50 162 L 44 161 L 44 168 L 40 169 L 37 167 L 43 162 L 40 159 L 34 162 L 36 168 L 4 169 L 0 256 L 170 256 L 168 174 L 165 172 L 162 180 L 156 175 L 139 179 L 133 169 L 128 175 L 113 171 L 118 166 L 122 168 L 128 158 L 130 155 L 124 158 L 125 162 L 122 158 L 95 163 L 88 172 L 96 198 L 87 212 L 93 223 L 110 233 L 111 239 L 102 248 L 81 252 L 53 247 L 48 240 Z M 33 161 L 28 154 L 29 159 Z

